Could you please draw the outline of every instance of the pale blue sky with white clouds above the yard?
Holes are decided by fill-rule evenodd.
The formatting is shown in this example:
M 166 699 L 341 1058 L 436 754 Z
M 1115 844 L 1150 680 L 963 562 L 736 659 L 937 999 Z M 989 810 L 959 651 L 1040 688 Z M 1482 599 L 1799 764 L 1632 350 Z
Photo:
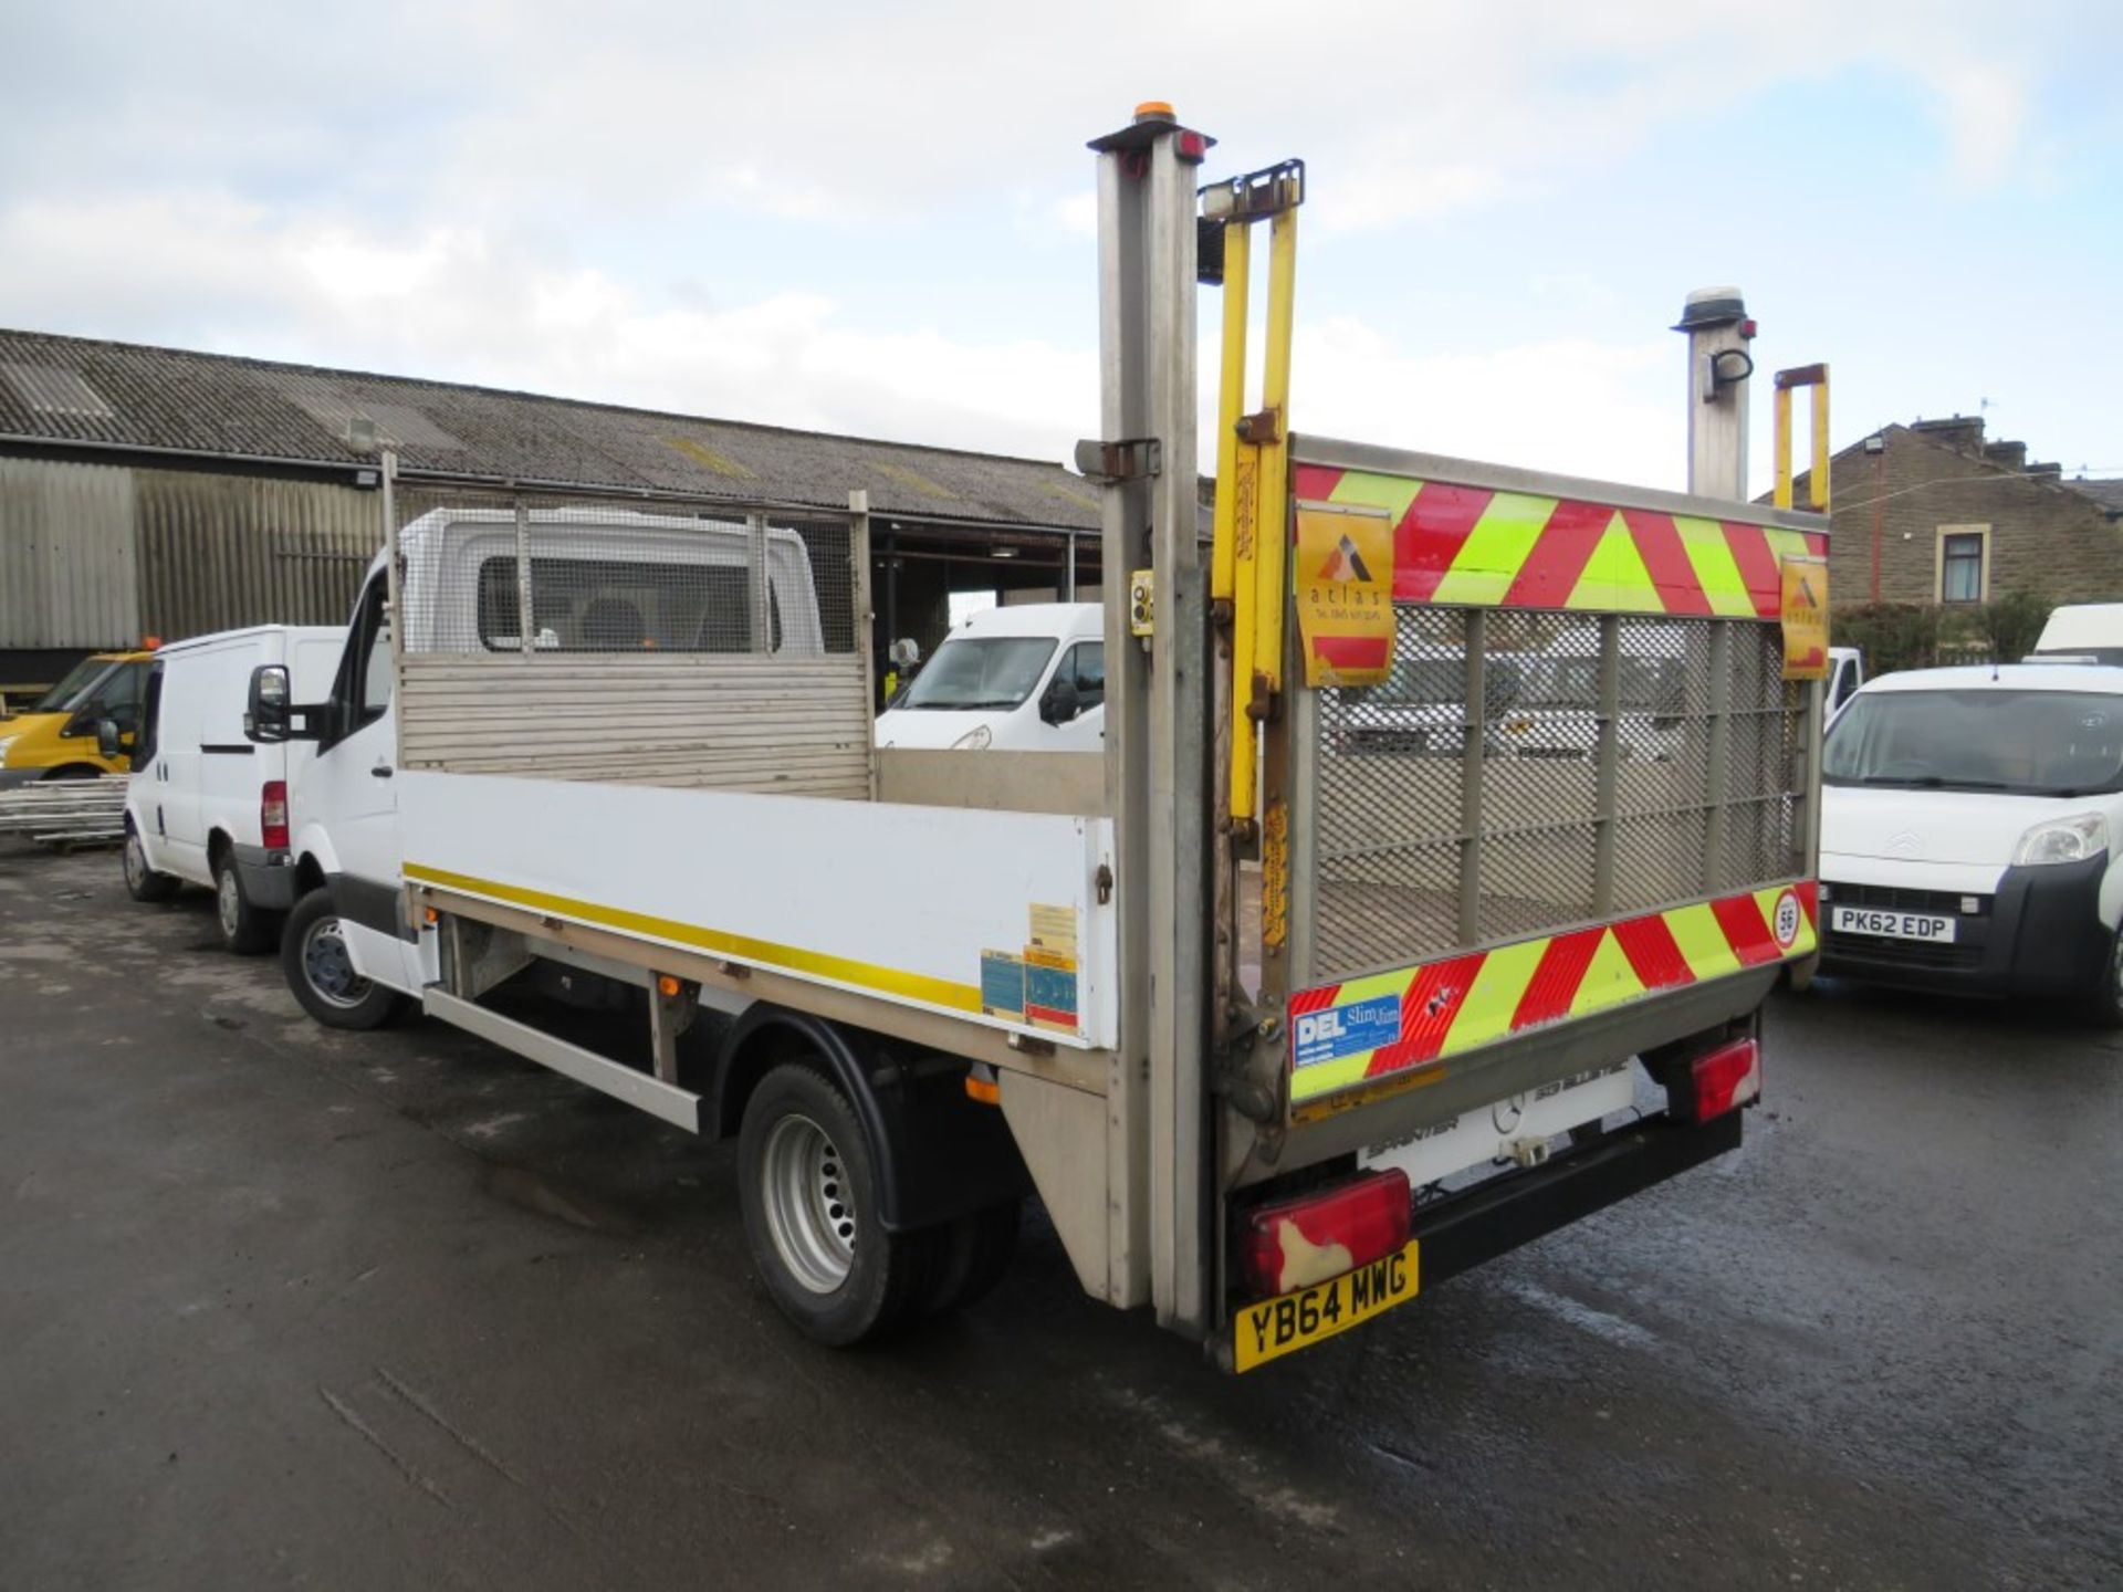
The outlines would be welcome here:
M 1987 405 L 2123 473 L 2115 0 L 0 0 L 0 325 L 1064 458 L 1083 142 L 1155 96 L 1208 174 L 1310 163 L 1299 429 L 1677 486 L 1667 327 L 1737 282 L 1836 446 Z

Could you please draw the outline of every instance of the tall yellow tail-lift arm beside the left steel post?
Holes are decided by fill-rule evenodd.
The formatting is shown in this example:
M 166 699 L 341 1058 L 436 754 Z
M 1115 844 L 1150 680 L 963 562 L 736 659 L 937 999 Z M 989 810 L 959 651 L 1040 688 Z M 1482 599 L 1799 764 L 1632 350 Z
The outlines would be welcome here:
M 1255 817 L 1259 726 L 1282 692 L 1282 613 L 1289 569 L 1291 325 L 1304 161 L 1202 189 L 1204 231 L 1221 238 L 1223 367 L 1216 380 L 1216 543 L 1210 599 L 1231 613 L 1233 826 Z M 1253 316 L 1253 223 L 1267 221 L 1267 331 L 1261 408 L 1246 414 L 1246 327 Z M 1216 280 L 1212 248 L 1204 278 Z

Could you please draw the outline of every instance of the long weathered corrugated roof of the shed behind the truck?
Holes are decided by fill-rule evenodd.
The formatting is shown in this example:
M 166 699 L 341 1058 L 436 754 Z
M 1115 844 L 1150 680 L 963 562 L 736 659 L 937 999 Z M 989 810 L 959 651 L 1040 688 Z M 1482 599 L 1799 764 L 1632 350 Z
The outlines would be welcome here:
M 410 471 L 1095 529 L 1098 490 L 1036 458 L 577 403 L 405 376 L 0 329 L 0 439 Z

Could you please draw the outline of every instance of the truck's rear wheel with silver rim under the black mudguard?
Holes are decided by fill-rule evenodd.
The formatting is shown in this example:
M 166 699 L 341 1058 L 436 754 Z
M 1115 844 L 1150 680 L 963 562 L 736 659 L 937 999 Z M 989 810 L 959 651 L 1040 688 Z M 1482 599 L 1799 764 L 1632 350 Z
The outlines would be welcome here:
M 781 1314 L 845 1348 L 896 1325 L 926 1293 L 930 1233 L 877 1221 L 877 1161 L 847 1097 L 802 1061 L 775 1066 L 737 1136 L 745 1238 Z

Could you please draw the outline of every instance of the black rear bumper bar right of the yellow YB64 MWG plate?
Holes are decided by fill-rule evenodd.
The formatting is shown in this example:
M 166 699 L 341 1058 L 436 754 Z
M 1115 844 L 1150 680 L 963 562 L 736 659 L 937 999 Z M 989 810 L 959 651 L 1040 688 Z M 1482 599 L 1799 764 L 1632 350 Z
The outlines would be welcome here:
M 1647 1117 L 1588 1144 L 1573 1144 L 1546 1165 L 1505 1172 L 1465 1193 L 1416 1208 L 1422 1286 L 1569 1227 L 1596 1210 L 1643 1193 L 1741 1144 L 1741 1114 L 1707 1123 Z

